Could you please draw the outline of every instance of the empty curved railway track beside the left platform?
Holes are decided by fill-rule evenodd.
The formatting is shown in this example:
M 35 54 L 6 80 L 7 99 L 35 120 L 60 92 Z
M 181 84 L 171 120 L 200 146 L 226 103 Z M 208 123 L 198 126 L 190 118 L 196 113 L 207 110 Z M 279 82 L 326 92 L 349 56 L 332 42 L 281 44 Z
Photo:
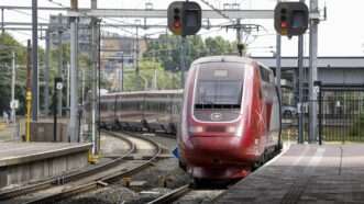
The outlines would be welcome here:
M 148 167 L 158 158 L 158 156 L 163 154 L 163 148 L 159 146 L 159 144 L 141 137 L 137 134 L 120 134 L 113 132 L 103 133 L 124 140 L 129 146 L 128 152 L 120 155 L 110 161 L 85 169 L 82 171 L 52 178 L 41 183 L 0 192 L 0 201 L 7 200 L 9 201 L 8 203 L 16 203 L 16 200 L 21 200 L 21 203 L 29 204 L 54 203 L 55 201 L 76 195 L 81 192 L 106 186 L 108 183 L 111 183 L 120 178 L 136 173 Z M 150 155 L 145 155 L 145 152 L 143 152 L 143 157 L 140 157 L 137 162 L 133 163 L 131 158 L 137 155 L 141 149 L 135 145 L 135 139 L 143 140 L 144 143 L 153 146 L 153 152 Z M 40 192 L 41 190 L 42 192 Z

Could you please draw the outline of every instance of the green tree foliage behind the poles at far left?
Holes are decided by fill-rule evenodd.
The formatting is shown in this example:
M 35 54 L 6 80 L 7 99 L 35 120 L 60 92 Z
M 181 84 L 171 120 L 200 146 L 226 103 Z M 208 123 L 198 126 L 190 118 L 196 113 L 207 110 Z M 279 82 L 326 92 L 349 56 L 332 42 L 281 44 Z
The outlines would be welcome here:
M 11 100 L 11 60 L 12 60 L 12 50 L 15 52 L 15 63 L 16 63 L 16 87 L 15 87 L 15 99 L 19 100 L 20 106 L 16 110 L 16 114 L 24 115 L 25 113 L 25 91 L 26 91 L 26 47 L 16 42 L 10 34 L 4 33 L 0 34 L 0 113 L 2 111 L 10 110 L 10 100 Z M 53 95 L 53 86 L 54 78 L 57 76 L 58 69 L 58 57 L 63 55 L 63 67 L 64 70 L 67 70 L 66 67 L 69 65 L 69 44 L 63 44 L 62 48 L 53 47 L 51 50 L 51 60 L 49 60 L 49 97 L 51 97 L 51 109 L 53 105 L 52 95 Z M 80 71 L 84 70 L 84 71 Z M 82 72 L 87 79 L 90 79 L 90 59 L 88 56 L 82 54 L 79 55 L 79 72 Z M 38 76 L 40 76 L 40 107 L 42 111 L 44 109 L 44 49 L 38 47 Z M 66 72 L 64 71 L 64 77 Z M 79 80 L 79 86 L 80 86 Z M 102 84 L 107 84 L 102 81 Z M 91 87 L 91 80 L 87 80 L 86 83 L 86 93 Z M 66 95 L 66 86 L 64 86 L 64 95 Z M 80 93 L 80 91 L 79 91 Z M 64 97 L 64 103 L 66 104 L 66 97 Z

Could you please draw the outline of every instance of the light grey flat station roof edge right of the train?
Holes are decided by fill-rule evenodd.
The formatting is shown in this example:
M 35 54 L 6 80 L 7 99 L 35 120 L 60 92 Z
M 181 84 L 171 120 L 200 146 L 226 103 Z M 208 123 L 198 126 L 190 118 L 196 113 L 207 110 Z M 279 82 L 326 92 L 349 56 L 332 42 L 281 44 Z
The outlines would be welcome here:
M 261 61 L 262 64 L 275 68 L 276 58 L 275 57 L 257 57 L 252 56 L 253 59 Z M 305 57 L 304 66 L 309 67 L 309 58 Z M 318 57 L 318 67 L 319 68 L 364 68 L 364 56 L 363 57 Z M 282 68 L 297 68 L 297 57 L 282 57 Z

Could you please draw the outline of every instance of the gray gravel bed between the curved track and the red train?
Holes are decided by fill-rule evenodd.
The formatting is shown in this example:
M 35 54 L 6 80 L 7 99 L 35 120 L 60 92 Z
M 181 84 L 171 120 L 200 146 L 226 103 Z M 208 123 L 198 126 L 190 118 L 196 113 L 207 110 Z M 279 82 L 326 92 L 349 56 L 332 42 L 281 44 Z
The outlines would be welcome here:
M 153 140 L 164 145 L 169 151 L 176 147 L 176 140 L 173 138 L 148 136 Z M 168 158 L 155 162 L 154 166 L 133 175 L 131 181 L 145 181 L 143 186 L 131 188 L 123 186 L 120 180 L 114 184 L 91 191 L 59 204 L 142 204 L 147 203 L 178 186 L 189 183 L 190 178 L 178 167 L 176 158 Z

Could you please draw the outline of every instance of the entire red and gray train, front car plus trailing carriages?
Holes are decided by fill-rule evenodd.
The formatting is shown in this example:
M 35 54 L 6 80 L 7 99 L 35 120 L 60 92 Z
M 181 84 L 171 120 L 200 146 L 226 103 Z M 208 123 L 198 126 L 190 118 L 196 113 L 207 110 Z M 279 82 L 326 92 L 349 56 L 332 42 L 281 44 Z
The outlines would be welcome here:
M 238 56 L 195 60 L 185 90 L 109 93 L 101 121 L 177 134 L 179 165 L 195 179 L 245 177 L 282 148 L 274 72 Z

